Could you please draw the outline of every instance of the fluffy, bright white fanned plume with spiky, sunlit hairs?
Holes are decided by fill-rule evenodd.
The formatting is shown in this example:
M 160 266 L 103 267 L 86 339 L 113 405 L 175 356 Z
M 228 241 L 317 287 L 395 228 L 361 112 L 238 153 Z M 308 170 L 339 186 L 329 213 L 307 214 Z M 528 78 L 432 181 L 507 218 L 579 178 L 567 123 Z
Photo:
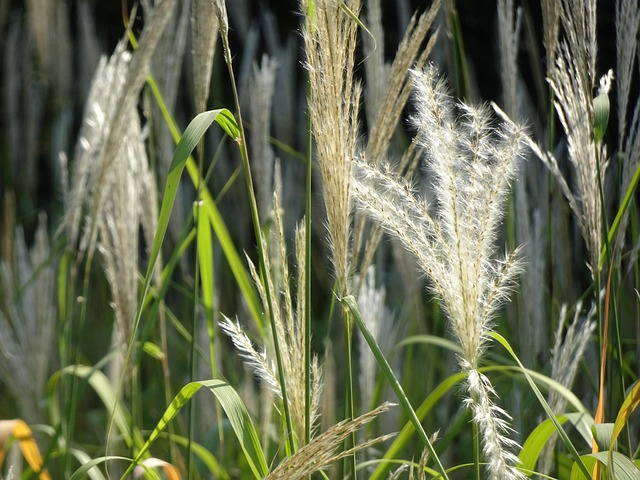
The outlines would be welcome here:
M 513 466 L 516 444 L 506 436 L 508 416 L 493 403 L 495 392 L 478 366 L 496 311 L 520 272 L 518 252 L 496 259 L 494 242 L 523 134 L 513 123 L 492 126 L 486 107 L 454 105 L 433 67 L 413 77 L 416 141 L 427 156 L 436 204 L 432 209 L 409 182 L 360 161 L 356 206 L 416 256 L 448 314 L 463 351 L 465 403 L 480 427 L 488 478 L 522 478 Z

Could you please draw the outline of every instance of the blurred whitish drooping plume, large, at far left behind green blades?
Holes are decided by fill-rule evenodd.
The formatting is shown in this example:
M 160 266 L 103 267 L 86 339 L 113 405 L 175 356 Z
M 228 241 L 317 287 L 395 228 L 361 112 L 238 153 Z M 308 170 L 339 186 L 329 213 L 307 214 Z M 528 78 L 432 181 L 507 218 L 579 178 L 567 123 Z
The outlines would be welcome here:
M 166 0 L 165 0 L 166 1 Z M 126 89 L 132 57 L 121 42 L 107 62 L 102 59 L 87 100 L 84 122 L 75 150 L 71 188 L 65 198 L 65 220 L 73 248 L 80 238 L 81 254 L 102 253 L 115 312 L 113 344 L 125 345 L 132 333 L 137 308 L 138 243 L 142 226 L 147 245 L 156 230 L 157 191 L 142 138 L 135 104 L 120 111 L 116 92 Z M 117 127 L 126 124 L 117 148 L 105 149 Z M 89 211 L 80 233 L 83 212 Z M 119 381 L 124 354 L 116 357 L 111 379 Z

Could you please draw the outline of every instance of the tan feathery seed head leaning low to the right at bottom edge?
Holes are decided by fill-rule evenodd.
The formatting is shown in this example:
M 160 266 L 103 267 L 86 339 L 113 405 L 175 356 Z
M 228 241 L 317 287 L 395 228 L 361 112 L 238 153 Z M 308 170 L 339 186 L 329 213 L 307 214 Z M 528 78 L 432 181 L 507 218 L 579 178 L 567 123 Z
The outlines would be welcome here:
M 318 435 L 310 443 L 302 447 L 295 454 L 287 457 L 278 467 L 265 477 L 265 480 L 298 480 L 314 472 L 328 467 L 341 458 L 353 455 L 355 452 L 368 448 L 376 443 L 383 442 L 393 435 L 382 437 L 360 443 L 340 453 L 335 453 L 336 449 L 352 433 L 369 423 L 383 412 L 389 410 L 392 404 L 384 403 L 375 410 L 351 420 L 343 420 L 331 427 L 326 432 Z

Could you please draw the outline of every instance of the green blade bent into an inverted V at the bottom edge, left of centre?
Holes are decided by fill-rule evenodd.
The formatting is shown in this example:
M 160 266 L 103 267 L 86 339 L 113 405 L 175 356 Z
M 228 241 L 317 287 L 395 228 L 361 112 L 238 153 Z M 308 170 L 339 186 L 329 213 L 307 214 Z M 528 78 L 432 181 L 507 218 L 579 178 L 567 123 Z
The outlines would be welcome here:
M 125 479 L 127 475 L 133 471 L 134 467 L 142 461 L 144 455 L 164 431 L 167 424 L 173 420 L 180 410 L 202 387 L 209 389 L 222 405 L 255 478 L 260 479 L 267 475 L 267 462 L 265 460 L 264 453 L 262 452 L 262 448 L 260 447 L 258 434 L 242 399 L 229 384 L 222 380 L 213 379 L 188 383 L 182 387 L 180 392 L 178 392 L 171 404 L 165 410 L 162 418 L 154 428 L 153 432 L 151 432 L 151 435 L 140 449 L 138 455 L 136 455 L 136 458 L 122 476 L 122 479 Z

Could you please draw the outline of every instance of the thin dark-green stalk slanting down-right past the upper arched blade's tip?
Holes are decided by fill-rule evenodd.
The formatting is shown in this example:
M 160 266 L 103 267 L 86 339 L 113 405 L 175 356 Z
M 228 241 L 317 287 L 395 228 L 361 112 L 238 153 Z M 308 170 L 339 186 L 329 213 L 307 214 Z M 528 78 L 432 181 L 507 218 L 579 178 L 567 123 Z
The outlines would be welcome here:
M 249 193 L 249 206 L 251 209 L 251 222 L 253 224 L 253 230 L 256 235 L 256 243 L 258 246 L 258 260 L 260 263 L 260 270 L 263 274 L 267 274 L 266 272 L 266 252 L 263 248 L 262 243 L 262 235 L 260 229 L 260 218 L 258 216 L 258 205 L 256 203 L 256 195 L 253 189 L 253 179 L 251 178 L 251 167 L 249 166 L 249 154 L 247 152 L 247 141 L 244 132 L 244 124 L 242 122 L 242 113 L 240 110 L 240 100 L 238 97 L 238 88 L 236 86 L 235 75 L 233 73 L 233 64 L 231 59 L 231 49 L 229 47 L 229 37 L 224 33 L 224 29 L 221 29 L 222 32 L 222 43 L 224 50 L 224 58 L 227 64 L 227 68 L 229 70 L 229 79 L 231 80 L 231 89 L 233 91 L 233 100 L 236 107 L 236 115 L 238 117 L 238 128 L 240 130 L 240 141 L 239 141 L 239 150 L 240 157 L 242 158 L 242 167 L 245 173 L 245 180 L 247 184 L 247 192 Z M 284 409 L 284 417 L 286 422 L 286 438 L 287 438 L 287 449 L 290 454 L 295 452 L 295 442 L 293 437 L 293 424 L 291 421 L 291 414 L 289 412 L 289 402 L 287 398 L 287 385 L 285 382 L 284 376 L 284 367 L 282 364 L 282 353 L 280 350 L 280 339 L 278 338 L 278 329 L 276 328 L 275 317 L 273 315 L 274 307 L 273 307 L 273 298 L 271 293 L 271 288 L 269 287 L 269 282 L 264 282 L 265 294 L 268 302 L 268 315 L 269 315 L 269 323 L 271 325 L 271 334 L 273 335 L 273 349 L 276 355 L 276 366 L 278 368 L 278 380 L 280 382 L 280 389 L 282 390 L 282 404 Z

